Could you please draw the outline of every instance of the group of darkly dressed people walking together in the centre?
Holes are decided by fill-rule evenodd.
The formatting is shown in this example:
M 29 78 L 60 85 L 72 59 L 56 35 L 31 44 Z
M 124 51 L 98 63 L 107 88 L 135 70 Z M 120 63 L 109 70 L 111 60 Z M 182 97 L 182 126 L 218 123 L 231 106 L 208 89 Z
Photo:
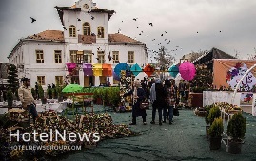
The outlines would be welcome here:
M 155 78 L 150 81 L 134 80 L 133 87 L 124 94 L 124 97 L 132 96 L 132 121 L 130 125 L 136 125 L 136 117 L 142 116 L 143 124 L 146 125 L 146 109 L 141 108 L 142 101 L 148 100 L 152 105 L 151 124 L 155 124 L 156 110 L 158 111 L 159 125 L 172 124 L 173 108 L 179 103 L 178 93 L 184 89 L 184 82 L 176 86 L 175 80 L 161 80 Z

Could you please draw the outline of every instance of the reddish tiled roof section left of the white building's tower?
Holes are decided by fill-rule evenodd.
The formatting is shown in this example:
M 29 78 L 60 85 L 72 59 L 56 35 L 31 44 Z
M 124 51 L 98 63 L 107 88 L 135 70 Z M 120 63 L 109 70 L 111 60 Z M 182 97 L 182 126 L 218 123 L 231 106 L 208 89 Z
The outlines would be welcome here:
M 28 36 L 27 39 L 64 41 L 64 35 L 63 31 L 60 30 L 45 30 L 38 34 Z

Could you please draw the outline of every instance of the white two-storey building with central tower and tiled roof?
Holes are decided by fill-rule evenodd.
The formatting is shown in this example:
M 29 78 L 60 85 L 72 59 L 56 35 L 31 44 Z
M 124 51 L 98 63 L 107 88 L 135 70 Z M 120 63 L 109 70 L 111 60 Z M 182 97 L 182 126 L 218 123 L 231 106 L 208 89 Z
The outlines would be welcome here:
M 8 59 L 18 67 L 19 78 L 28 77 L 34 86 L 44 88 L 51 83 L 62 84 L 65 78 L 84 86 L 114 84 L 113 77 L 85 76 L 83 63 L 118 63 L 145 66 L 148 63 L 146 45 L 120 33 L 108 33 L 108 21 L 114 10 L 98 9 L 92 0 L 80 0 L 72 7 L 55 7 L 64 30 L 46 30 L 21 39 Z M 111 57 L 111 59 L 109 59 Z M 76 63 L 69 76 L 66 63 Z M 140 73 L 140 80 L 146 76 Z

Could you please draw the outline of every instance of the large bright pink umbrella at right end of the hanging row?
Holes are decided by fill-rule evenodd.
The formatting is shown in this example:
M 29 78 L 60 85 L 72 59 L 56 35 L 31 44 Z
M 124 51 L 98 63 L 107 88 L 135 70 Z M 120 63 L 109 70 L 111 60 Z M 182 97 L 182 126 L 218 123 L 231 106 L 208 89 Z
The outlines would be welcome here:
M 196 70 L 193 63 L 185 62 L 179 66 L 179 72 L 184 80 L 193 80 Z

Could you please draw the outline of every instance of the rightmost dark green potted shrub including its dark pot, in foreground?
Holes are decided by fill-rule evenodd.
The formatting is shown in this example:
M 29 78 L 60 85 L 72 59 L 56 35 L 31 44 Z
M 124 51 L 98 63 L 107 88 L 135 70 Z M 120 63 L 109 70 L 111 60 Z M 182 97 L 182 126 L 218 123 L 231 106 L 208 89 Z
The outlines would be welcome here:
M 246 117 L 242 113 L 235 113 L 228 122 L 227 135 L 231 137 L 228 140 L 228 152 L 241 153 L 242 141 L 246 135 Z

